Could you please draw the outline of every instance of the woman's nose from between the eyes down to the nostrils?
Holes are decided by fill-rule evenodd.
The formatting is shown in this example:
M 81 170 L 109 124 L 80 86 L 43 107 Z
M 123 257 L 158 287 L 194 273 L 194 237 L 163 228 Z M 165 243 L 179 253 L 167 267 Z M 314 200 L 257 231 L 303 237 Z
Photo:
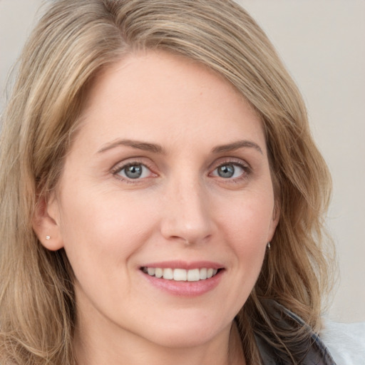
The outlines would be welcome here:
M 213 221 L 207 191 L 198 180 L 171 183 L 163 199 L 161 233 L 165 239 L 199 244 L 209 240 Z

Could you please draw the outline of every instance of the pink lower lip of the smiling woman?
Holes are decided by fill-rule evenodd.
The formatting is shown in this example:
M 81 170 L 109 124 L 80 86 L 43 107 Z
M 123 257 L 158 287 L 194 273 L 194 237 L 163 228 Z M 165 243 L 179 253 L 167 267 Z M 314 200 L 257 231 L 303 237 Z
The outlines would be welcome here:
M 212 289 L 217 287 L 224 271 L 225 270 L 222 269 L 217 272 L 214 277 L 199 280 L 198 282 L 175 282 L 175 280 L 151 277 L 142 271 L 141 274 L 143 274 L 145 279 L 147 279 L 154 287 L 158 287 L 158 289 L 168 292 L 169 294 L 176 295 L 178 297 L 199 297 L 200 295 L 210 292 Z

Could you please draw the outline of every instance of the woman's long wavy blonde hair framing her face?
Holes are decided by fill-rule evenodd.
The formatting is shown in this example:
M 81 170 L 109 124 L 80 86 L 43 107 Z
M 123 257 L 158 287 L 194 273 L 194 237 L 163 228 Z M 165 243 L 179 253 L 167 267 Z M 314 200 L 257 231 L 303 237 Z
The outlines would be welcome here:
M 255 336 L 299 361 L 307 334 L 279 327 L 267 299 L 319 329 L 329 283 L 322 235 L 329 172 L 292 78 L 262 29 L 230 0 L 59 0 L 39 21 L 2 117 L 0 361 L 76 363 L 72 269 L 63 250 L 43 248 L 31 222 L 38 197 L 58 181 L 88 86 L 101 68 L 135 49 L 202 63 L 260 115 L 280 220 L 237 322 L 249 364 L 261 363 Z

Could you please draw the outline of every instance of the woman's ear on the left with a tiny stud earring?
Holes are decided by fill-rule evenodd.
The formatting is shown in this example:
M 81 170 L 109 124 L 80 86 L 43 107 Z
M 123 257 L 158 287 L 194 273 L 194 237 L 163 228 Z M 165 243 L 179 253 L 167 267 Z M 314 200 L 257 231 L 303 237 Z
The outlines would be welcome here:
M 54 195 L 49 200 L 46 200 L 45 197 L 39 198 L 34 210 L 32 225 L 39 242 L 46 249 L 56 251 L 63 247 L 59 227 L 58 202 Z

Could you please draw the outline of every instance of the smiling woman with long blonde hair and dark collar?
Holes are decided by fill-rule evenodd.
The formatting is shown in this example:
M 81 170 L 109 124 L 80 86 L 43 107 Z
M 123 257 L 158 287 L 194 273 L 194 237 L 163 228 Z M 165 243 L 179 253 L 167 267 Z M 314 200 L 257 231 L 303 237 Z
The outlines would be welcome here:
M 334 364 L 327 166 L 220 0 L 61 0 L 1 133 L 1 364 Z

